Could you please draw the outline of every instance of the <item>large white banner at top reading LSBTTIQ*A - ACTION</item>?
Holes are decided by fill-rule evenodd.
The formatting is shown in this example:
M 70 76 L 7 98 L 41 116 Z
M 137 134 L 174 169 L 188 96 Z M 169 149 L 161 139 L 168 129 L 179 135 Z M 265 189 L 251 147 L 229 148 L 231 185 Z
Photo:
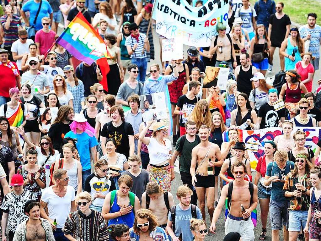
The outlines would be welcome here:
M 216 24 L 227 25 L 228 11 L 228 0 L 209 0 L 202 7 L 192 7 L 186 0 L 156 0 L 152 18 L 161 36 L 180 36 L 185 45 L 209 47 L 216 35 Z

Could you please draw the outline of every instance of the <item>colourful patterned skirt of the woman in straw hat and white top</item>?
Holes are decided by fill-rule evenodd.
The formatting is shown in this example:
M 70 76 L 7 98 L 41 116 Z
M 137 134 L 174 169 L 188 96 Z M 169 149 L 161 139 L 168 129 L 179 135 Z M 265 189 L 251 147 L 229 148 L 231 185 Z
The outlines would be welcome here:
M 149 172 L 150 182 L 157 182 L 164 191 L 170 192 L 171 174 L 169 164 L 160 167 L 148 164 L 147 172 Z

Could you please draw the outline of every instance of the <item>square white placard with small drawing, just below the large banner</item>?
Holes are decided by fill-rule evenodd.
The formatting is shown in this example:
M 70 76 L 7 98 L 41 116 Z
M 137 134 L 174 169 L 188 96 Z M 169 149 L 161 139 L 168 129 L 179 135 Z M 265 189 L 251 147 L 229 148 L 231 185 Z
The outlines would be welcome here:
M 161 48 L 161 61 L 183 59 L 183 43 L 180 38 L 163 39 Z

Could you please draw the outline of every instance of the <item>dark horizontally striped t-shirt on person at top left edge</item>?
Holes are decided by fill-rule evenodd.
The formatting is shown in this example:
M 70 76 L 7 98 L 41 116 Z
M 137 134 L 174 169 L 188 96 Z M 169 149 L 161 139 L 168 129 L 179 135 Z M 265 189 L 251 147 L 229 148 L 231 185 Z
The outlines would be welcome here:
M 11 16 L 9 29 L 5 29 L 4 25 L 7 22 L 7 15 L 0 18 L 1 25 L 4 31 L 4 46 L 11 47 L 12 43 L 19 39 L 18 37 L 18 27 L 17 24 L 21 26 L 20 18 L 17 15 Z

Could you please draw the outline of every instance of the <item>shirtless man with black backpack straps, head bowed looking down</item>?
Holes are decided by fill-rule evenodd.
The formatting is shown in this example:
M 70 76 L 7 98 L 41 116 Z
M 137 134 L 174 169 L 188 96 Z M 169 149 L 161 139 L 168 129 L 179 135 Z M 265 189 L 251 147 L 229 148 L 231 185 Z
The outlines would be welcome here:
M 170 192 L 164 192 L 156 182 L 147 183 L 146 192 L 143 192 L 142 195 L 142 208 L 149 209 L 153 212 L 157 217 L 159 227 L 166 228 L 167 215 L 170 207 L 173 205 L 174 199 Z

